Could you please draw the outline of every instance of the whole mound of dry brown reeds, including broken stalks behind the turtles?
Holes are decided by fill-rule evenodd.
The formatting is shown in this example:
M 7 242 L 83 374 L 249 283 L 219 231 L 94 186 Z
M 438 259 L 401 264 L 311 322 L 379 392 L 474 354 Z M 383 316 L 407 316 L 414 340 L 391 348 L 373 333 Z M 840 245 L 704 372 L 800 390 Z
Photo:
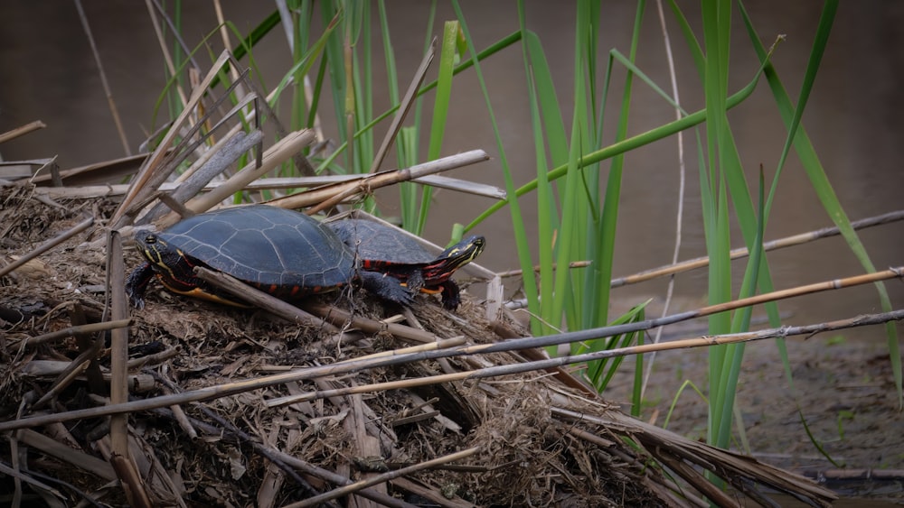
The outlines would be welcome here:
M 141 163 L 128 186 L 75 183 L 96 168 L 52 171 L 44 178 L 55 188 L 0 182 L 4 502 L 738 505 L 741 494 L 724 494 L 705 471 L 758 503 L 768 503 L 758 485 L 813 505 L 833 499 L 804 478 L 628 418 L 558 368 L 523 368 L 540 351 L 506 343 L 490 353 L 485 345 L 519 335 L 499 298 L 448 312 L 424 295 L 411 309 L 324 295 L 306 302 L 315 317 L 266 295 L 252 300 L 261 310 L 236 310 L 154 287 L 145 309 L 127 309 L 125 269 L 140 260 L 119 240 L 133 223 L 165 227 L 261 188 L 309 189 L 271 201 L 284 208 L 333 208 L 486 159 L 466 152 L 355 181 L 258 180 L 290 160 L 304 172 L 300 153 L 315 135 L 280 131 L 265 150 L 263 134 L 235 120 L 240 106 L 215 124 L 192 120 L 221 112 L 226 96 L 207 89 L 230 59 L 214 64 L 155 152 L 108 165 Z M 266 108 L 260 97 L 241 105 Z M 243 153 L 254 162 L 211 183 Z

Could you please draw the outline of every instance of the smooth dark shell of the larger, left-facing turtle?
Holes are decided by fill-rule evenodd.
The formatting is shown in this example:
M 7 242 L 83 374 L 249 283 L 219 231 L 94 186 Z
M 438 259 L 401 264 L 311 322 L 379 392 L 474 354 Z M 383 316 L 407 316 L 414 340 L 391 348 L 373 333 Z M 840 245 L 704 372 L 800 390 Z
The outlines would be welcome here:
M 351 282 L 354 254 L 332 230 L 266 205 L 186 218 L 156 237 L 181 254 L 271 294 L 302 296 Z

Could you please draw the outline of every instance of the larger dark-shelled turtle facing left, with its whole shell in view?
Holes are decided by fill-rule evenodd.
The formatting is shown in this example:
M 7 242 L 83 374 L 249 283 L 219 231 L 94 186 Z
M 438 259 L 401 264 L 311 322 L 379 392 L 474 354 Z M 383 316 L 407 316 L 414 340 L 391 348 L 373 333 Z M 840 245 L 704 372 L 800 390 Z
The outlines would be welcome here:
M 126 282 L 130 302 L 144 307 L 148 282 L 156 276 L 178 294 L 248 307 L 202 281 L 194 266 L 227 273 L 282 300 L 363 286 L 384 300 L 407 305 L 413 299 L 400 280 L 362 270 L 334 231 L 303 213 L 268 205 L 224 208 L 185 218 L 163 232 L 138 230 L 136 245 L 146 263 Z

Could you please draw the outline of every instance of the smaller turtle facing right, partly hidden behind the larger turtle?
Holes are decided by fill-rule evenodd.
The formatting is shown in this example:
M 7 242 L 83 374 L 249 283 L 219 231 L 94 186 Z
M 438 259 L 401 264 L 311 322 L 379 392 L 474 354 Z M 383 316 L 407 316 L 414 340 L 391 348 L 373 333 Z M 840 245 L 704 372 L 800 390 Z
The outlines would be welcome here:
M 450 310 L 461 303 L 452 273 L 474 260 L 486 245 L 483 236 L 468 236 L 437 256 L 412 236 L 379 222 L 347 218 L 326 224 L 358 254 L 363 270 L 394 277 L 414 292 L 441 292 L 443 307 Z

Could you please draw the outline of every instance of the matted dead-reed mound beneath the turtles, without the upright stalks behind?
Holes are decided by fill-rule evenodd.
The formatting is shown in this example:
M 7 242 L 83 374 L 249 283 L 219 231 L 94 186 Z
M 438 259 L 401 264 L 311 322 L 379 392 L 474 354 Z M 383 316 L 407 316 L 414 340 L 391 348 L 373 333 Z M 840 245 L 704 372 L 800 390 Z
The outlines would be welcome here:
M 113 209 L 103 199 L 56 207 L 36 198 L 30 186 L 3 192 L 5 263 L 85 214 L 103 224 Z M 395 350 L 410 344 L 387 331 L 288 322 L 159 287 L 146 309 L 132 312 L 127 383 L 134 409 L 116 410 L 108 399 L 109 333 L 72 328 L 104 320 L 108 260 L 99 229 L 92 231 L 9 273 L 0 287 L 0 428 L 17 429 L 3 441 L 0 490 L 20 499 L 294 506 L 320 495 L 314 502 L 325 505 L 638 506 L 693 505 L 702 493 L 734 503 L 708 489 L 702 467 L 748 486 L 748 494 L 759 483 L 816 504 L 831 499 L 803 478 L 630 419 L 562 383 L 568 377 L 561 372 L 405 384 L 513 365 L 536 352 L 376 367 L 365 359 L 335 368 L 381 352 L 402 356 Z M 138 262 L 127 250 L 126 265 Z M 362 294 L 327 295 L 313 309 L 329 306 L 352 309 L 358 319 L 391 317 Z M 420 296 L 402 314 L 406 325 L 395 326 L 468 344 L 498 341 L 494 329 L 511 334 L 511 323 L 484 316 L 474 300 L 450 313 Z M 273 381 L 280 376 L 293 380 Z M 374 383 L 398 387 L 366 388 Z M 113 412 L 128 415 L 131 475 L 111 451 Z M 676 484 L 678 477 L 698 490 Z

